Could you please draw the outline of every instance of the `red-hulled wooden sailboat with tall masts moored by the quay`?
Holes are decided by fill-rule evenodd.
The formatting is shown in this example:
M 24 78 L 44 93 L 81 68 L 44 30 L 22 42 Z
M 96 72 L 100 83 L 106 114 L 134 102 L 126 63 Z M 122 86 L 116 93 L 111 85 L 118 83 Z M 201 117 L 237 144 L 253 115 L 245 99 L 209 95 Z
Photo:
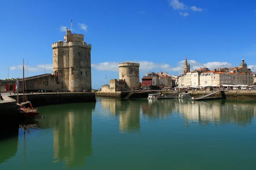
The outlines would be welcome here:
M 18 83 L 19 81 L 17 80 L 17 111 L 21 114 L 24 114 L 24 117 L 26 118 L 33 118 L 35 115 L 38 115 L 38 108 L 33 108 L 32 104 L 30 101 L 26 100 L 25 97 L 25 79 L 24 79 L 24 59 L 23 59 L 23 102 L 19 102 L 19 96 L 18 96 Z M 30 105 L 30 107 L 26 107 L 26 105 Z

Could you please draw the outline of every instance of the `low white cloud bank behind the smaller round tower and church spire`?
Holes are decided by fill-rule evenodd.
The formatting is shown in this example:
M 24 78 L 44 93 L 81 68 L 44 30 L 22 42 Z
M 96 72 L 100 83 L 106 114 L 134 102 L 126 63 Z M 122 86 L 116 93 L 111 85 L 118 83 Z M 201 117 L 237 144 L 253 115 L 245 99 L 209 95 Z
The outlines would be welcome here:
M 169 64 L 166 63 L 154 63 L 154 62 L 148 62 L 148 61 L 139 61 L 140 63 L 140 71 L 175 71 L 178 74 L 182 74 L 184 62 L 180 61 L 177 63 L 176 67 L 171 67 Z M 196 70 L 199 68 L 209 68 L 210 70 L 214 70 L 215 68 L 231 68 L 232 65 L 228 62 L 207 62 L 207 63 L 200 63 L 195 60 L 188 60 L 188 63 L 190 64 L 190 70 Z M 96 70 L 100 71 L 119 71 L 118 63 L 117 62 L 102 62 L 99 64 L 92 64 L 92 67 Z

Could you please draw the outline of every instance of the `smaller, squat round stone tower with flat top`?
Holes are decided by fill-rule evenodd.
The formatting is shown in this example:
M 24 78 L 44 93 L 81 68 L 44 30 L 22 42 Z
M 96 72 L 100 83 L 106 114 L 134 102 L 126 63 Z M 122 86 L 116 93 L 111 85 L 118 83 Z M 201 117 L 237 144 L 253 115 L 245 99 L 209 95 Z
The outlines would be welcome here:
M 138 90 L 140 88 L 140 63 L 124 62 L 119 63 L 119 79 L 126 82 L 129 90 Z

